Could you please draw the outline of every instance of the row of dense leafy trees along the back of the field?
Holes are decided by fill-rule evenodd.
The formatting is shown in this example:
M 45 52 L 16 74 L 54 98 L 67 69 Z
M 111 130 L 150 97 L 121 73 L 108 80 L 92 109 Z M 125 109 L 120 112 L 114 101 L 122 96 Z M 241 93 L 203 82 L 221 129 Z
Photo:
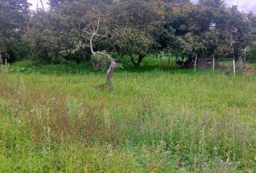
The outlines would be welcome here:
M 104 37 L 96 37 L 93 48 L 129 56 L 137 68 L 162 50 L 186 58 L 187 67 L 195 53 L 228 58 L 247 50 L 247 59 L 256 60 L 255 14 L 222 0 L 51 0 L 46 12 L 30 12 L 27 0 L 18 2 L 0 2 L 0 53 L 9 61 L 90 60 L 87 31 L 98 20 Z

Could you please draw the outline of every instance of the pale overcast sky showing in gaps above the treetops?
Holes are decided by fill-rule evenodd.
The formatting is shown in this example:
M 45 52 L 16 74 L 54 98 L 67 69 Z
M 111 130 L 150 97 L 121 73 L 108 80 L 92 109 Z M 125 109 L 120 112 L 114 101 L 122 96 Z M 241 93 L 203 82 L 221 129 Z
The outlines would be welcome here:
M 41 7 L 40 0 L 28 0 L 33 4 L 32 9 L 36 8 L 36 4 Z M 45 8 L 48 8 L 47 0 L 42 0 Z M 198 0 L 191 0 L 197 2 Z M 239 10 L 244 12 L 255 12 L 256 13 L 256 0 L 226 0 L 226 3 L 229 5 L 238 5 Z

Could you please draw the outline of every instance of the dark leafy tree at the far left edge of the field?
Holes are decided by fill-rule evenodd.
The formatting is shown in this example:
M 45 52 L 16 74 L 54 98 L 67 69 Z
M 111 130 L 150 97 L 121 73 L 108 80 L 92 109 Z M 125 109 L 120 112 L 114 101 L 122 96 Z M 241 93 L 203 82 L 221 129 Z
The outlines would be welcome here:
M 30 5 L 27 0 L 0 1 L 0 49 L 2 57 L 9 61 L 25 58 L 29 52 L 22 35 L 29 19 Z

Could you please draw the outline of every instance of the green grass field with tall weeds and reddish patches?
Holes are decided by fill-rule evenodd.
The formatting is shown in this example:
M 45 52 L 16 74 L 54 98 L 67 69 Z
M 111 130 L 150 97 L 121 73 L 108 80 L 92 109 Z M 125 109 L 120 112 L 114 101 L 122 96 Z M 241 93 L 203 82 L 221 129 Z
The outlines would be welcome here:
M 0 172 L 255 172 L 255 74 L 146 65 L 2 70 Z

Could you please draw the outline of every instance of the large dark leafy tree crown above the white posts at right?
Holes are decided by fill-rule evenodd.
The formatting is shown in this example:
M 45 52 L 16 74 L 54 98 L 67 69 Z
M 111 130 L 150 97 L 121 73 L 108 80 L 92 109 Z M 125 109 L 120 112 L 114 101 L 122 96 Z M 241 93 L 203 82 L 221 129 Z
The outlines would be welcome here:
M 234 48 L 236 56 L 248 45 L 249 25 L 244 14 L 236 6 L 226 7 L 221 0 L 201 0 L 188 13 L 188 32 L 200 37 L 205 49 L 200 58 L 231 56 Z

